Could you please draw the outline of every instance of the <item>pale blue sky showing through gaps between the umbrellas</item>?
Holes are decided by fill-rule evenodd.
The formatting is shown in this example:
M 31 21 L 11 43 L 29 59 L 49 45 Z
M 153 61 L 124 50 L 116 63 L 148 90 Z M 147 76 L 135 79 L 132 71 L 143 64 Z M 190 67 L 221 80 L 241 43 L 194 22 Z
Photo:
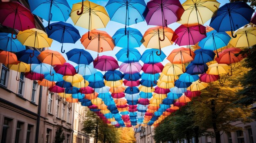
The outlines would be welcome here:
M 97 4 L 99 4 L 99 5 L 102 5 L 102 6 L 105 6 L 105 5 L 107 4 L 107 2 L 108 2 L 108 0 L 90 0 L 90 1 L 91 1 L 91 2 L 94 2 L 94 3 L 97 3 Z M 149 0 L 145 0 L 145 2 L 148 2 L 148 1 L 149 1 Z M 181 4 L 182 4 L 183 2 L 185 2 L 185 1 L 186 1 L 186 0 L 180 0 Z M 77 2 L 81 2 L 81 0 L 67 0 L 67 2 L 70 4 L 70 7 L 72 8 L 72 4 L 77 3 Z M 218 0 L 218 2 L 220 2 L 220 7 L 221 7 L 221 6 L 224 5 L 225 3 L 228 3 L 229 0 Z M 210 20 L 209 20 L 208 22 L 206 22 L 204 25 L 205 25 L 205 26 L 206 26 L 206 25 L 209 25 L 209 22 L 210 22 Z M 51 22 L 51 23 L 53 23 L 53 22 Z M 72 20 L 71 20 L 70 18 L 67 20 L 67 23 L 70 23 L 70 24 L 73 24 L 73 25 L 74 25 L 74 23 L 72 22 Z M 47 26 L 47 24 L 48 24 L 47 21 L 44 20 L 43 25 L 44 25 L 44 26 Z M 173 29 L 173 31 L 174 31 L 178 26 L 180 26 L 180 24 L 178 24 L 178 23 L 173 23 L 173 24 L 168 25 L 168 27 L 171 28 L 171 29 Z M 88 32 L 87 29 L 84 29 L 84 28 L 82 28 L 82 27 L 79 27 L 79 26 L 75 26 L 75 27 L 76 27 L 76 29 L 79 30 L 79 33 L 80 33 L 81 36 L 82 36 L 83 34 L 85 34 L 86 32 Z M 145 31 L 146 31 L 148 28 L 153 27 L 153 26 L 148 26 L 148 25 L 146 24 L 146 22 L 139 22 L 139 23 L 137 23 L 137 24 L 131 25 L 130 27 L 135 28 L 135 29 L 138 29 L 138 30 L 141 32 L 141 34 L 144 35 Z M 117 23 L 117 22 L 112 22 L 112 21 L 110 21 L 110 22 L 108 22 L 108 25 L 106 26 L 105 29 L 99 29 L 99 30 L 106 31 L 109 35 L 113 36 L 113 35 L 115 34 L 115 32 L 116 32 L 118 29 L 121 29 L 121 28 L 124 28 L 124 24 L 120 24 L 120 23 Z M 63 44 L 63 49 L 65 49 L 65 52 L 70 51 L 70 50 L 73 49 L 73 48 L 85 49 L 85 48 L 83 47 L 83 45 L 81 44 L 80 40 L 78 40 L 75 44 L 68 44 L 68 43 L 64 43 L 64 44 Z M 177 46 L 177 45 L 171 45 L 171 46 L 162 48 L 162 51 L 166 54 L 166 56 L 168 56 L 168 55 L 171 53 L 171 51 L 173 51 L 173 49 L 175 49 L 175 48 L 179 48 L 179 46 Z M 61 44 L 60 44 L 59 42 L 54 41 L 54 42 L 52 42 L 52 46 L 51 46 L 49 49 L 54 50 L 54 51 L 58 51 L 58 52 L 61 53 Z M 110 56 L 116 58 L 116 57 L 115 57 L 115 54 L 116 54 L 120 49 L 121 49 L 121 48 L 119 48 L 119 47 L 115 47 L 113 51 L 107 51 L 107 52 L 104 52 L 104 53 L 100 53 L 99 55 L 110 55 Z M 141 45 L 141 47 L 140 47 L 140 48 L 137 48 L 137 50 L 139 50 L 139 52 L 142 54 L 142 53 L 146 50 L 146 48 L 145 48 L 143 45 Z M 96 58 L 96 57 L 97 57 L 97 52 L 90 51 L 90 50 L 86 50 L 86 51 L 90 52 L 90 54 L 92 55 L 93 58 Z M 65 59 L 67 60 L 67 57 L 66 57 L 65 53 L 63 54 L 63 56 L 64 56 Z M 67 62 L 70 62 L 70 61 L 67 61 Z M 167 62 L 168 62 L 168 61 L 165 59 L 164 62 L 163 62 L 163 64 L 166 64 Z M 70 62 L 70 63 L 73 64 L 74 66 L 76 66 L 76 64 L 74 64 L 74 63 L 72 63 L 72 62 Z M 119 64 L 121 64 L 121 62 L 119 62 Z M 142 64 L 143 64 L 143 63 L 141 62 L 141 65 L 142 65 Z

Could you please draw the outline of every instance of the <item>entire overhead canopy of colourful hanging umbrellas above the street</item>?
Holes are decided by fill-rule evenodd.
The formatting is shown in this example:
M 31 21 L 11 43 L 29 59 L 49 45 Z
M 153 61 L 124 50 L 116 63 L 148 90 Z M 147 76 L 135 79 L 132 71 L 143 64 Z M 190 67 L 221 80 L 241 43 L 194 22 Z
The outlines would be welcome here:
M 231 76 L 232 65 L 245 58 L 236 56 L 240 48 L 256 44 L 256 28 L 244 27 L 256 24 L 254 9 L 245 2 L 220 7 L 216 0 L 186 0 L 183 4 L 177 0 L 109 0 L 104 7 L 82 0 L 72 8 L 66 0 L 28 2 L 30 9 L 18 2 L 0 3 L 0 24 L 11 29 L 11 33 L 0 33 L 0 63 L 17 71 L 17 81 L 23 72 L 67 102 L 87 106 L 116 128 L 157 126 L 200 96 L 208 83 L 223 84 L 220 77 Z M 48 22 L 45 31 L 36 29 L 33 14 Z M 68 18 L 74 24 L 67 23 Z M 110 20 L 124 28 L 114 35 L 97 30 L 106 28 Z M 203 25 L 208 20 L 211 31 Z M 129 27 L 144 21 L 153 25 L 144 34 Z M 168 27 L 175 22 L 181 24 L 177 29 Z M 76 26 L 88 32 L 80 35 Z M 67 59 L 51 50 L 53 40 L 61 43 L 60 51 Z M 85 49 L 65 52 L 64 43 L 78 40 Z M 193 50 L 191 46 L 197 43 L 200 48 Z M 173 44 L 180 47 L 162 51 Z M 137 49 L 141 45 L 148 48 L 143 53 Z M 232 48 L 225 48 L 228 45 Z M 115 56 L 104 55 L 115 46 L 121 48 Z M 97 52 L 97 57 L 88 51 Z

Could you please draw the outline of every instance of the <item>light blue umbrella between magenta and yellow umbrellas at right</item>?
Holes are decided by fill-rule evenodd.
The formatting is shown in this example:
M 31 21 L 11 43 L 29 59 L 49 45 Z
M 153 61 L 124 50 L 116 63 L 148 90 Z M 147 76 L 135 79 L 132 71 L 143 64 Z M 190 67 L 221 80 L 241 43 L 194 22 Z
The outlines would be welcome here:
M 207 37 L 202 39 L 198 43 L 198 46 L 204 50 L 216 50 L 217 56 L 219 57 L 217 49 L 227 46 L 231 37 L 226 32 L 217 33 L 216 30 L 207 32 L 206 35 Z

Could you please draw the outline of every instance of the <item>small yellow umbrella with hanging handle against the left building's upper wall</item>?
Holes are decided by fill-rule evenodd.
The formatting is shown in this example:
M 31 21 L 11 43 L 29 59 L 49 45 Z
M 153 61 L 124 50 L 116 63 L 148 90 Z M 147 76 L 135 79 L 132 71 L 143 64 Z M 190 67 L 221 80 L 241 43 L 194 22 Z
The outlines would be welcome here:
M 7 67 L 7 65 L 6 65 Z M 30 66 L 29 64 L 26 64 L 24 62 L 20 62 L 18 64 L 10 64 L 9 68 L 11 70 L 15 70 L 17 71 L 17 75 L 16 75 L 16 80 L 19 81 L 20 80 L 20 72 L 29 72 L 30 71 Z

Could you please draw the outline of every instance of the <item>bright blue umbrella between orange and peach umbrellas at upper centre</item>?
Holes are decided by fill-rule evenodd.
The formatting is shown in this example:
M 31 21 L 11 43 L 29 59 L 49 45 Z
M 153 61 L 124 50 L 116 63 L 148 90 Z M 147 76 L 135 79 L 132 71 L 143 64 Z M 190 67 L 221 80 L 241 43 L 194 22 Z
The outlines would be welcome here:
M 127 31 L 127 34 L 126 34 Z M 143 35 L 139 30 L 128 27 L 119 29 L 112 37 L 115 40 L 115 45 L 127 49 L 127 58 L 129 57 L 129 49 L 141 46 Z M 130 59 L 132 60 L 132 59 Z

